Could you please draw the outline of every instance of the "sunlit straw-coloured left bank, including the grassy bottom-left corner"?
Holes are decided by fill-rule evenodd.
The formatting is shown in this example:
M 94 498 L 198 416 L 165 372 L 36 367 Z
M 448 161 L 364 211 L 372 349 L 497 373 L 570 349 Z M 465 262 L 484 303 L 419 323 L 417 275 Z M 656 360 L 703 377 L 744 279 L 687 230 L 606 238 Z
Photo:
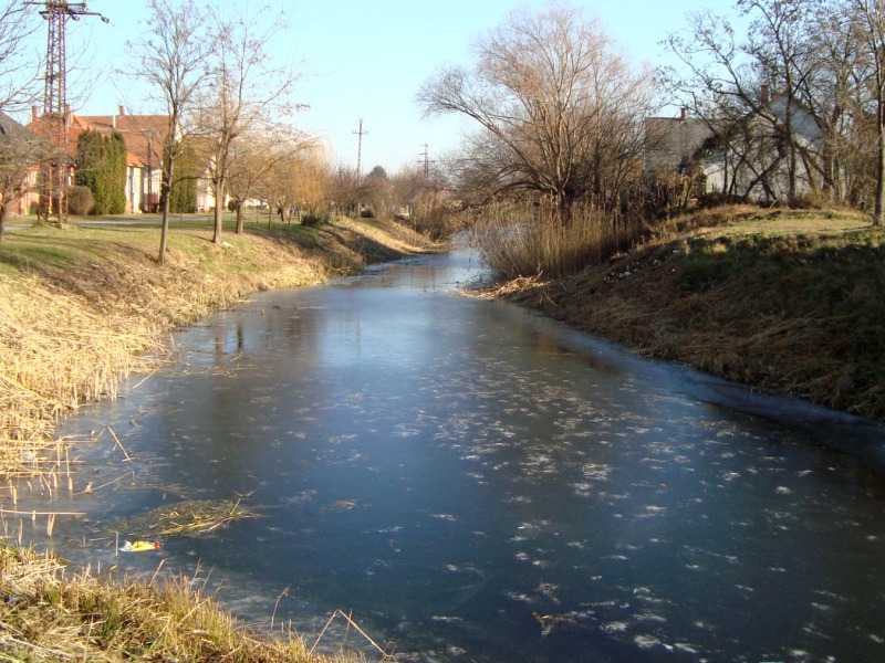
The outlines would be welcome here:
M 158 360 L 169 329 L 249 292 L 315 284 L 428 248 L 408 230 L 376 221 L 250 224 L 244 235 L 227 233 L 221 245 L 210 238 L 201 223 L 176 227 L 163 267 L 155 260 L 157 228 L 44 227 L 17 230 L 0 243 L 7 515 L 14 513 L 15 477 L 58 485 L 66 444 L 53 440 L 58 418 L 113 398 L 123 376 Z M 74 490 L 69 470 L 64 480 Z M 268 640 L 243 630 L 186 579 L 103 583 L 66 575 L 58 560 L 0 547 L 0 660 L 133 659 L 320 660 L 299 638 Z

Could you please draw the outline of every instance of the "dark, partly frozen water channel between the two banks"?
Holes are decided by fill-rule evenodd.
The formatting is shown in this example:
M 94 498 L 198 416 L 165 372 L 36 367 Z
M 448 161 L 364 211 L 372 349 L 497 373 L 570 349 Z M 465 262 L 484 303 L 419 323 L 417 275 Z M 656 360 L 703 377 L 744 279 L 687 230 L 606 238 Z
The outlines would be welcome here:
M 90 517 L 51 545 L 152 572 L 86 530 L 249 494 L 262 518 L 159 556 L 309 638 L 340 608 L 407 660 L 885 660 L 881 428 L 458 295 L 478 274 L 457 250 L 176 335 L 63 431 L 111 425 L 132 463 L 77 453 L 134 481 L 59 498 Z

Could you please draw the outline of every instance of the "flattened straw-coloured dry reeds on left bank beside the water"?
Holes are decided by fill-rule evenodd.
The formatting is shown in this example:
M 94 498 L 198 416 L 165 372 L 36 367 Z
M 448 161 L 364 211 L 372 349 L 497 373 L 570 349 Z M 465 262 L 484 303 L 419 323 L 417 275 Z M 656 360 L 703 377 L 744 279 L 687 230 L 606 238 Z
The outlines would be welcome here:
M 34 474 L 56 456 L 54 421 L 114 398 L 157 339 L 149 322 L 124 324 L 33 277 L 0 282 L 0 473 Z

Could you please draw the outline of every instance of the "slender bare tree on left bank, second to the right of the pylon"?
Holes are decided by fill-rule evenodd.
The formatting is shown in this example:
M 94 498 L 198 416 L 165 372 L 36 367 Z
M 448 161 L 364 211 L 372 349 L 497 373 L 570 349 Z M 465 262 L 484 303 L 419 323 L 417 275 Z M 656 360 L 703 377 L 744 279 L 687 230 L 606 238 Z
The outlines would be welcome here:
M 202 99 L 201 133 L 208 141 L 206 166 L 215 196 L 212 242 L 221 241 L 222 211 L 228 180 L 237 158 L 235 144 L 247 131 L 270 131 L 274 119 L 289 114 L 285 96 L 298 76 L 288 64 L 275 66 L 271 43 L 283 29 L 282 15 L 273 17 L 271 28 L 256 33 L 267 15 L 226 17 L 220 9 L 212 15 L 215 45 L 211 84 Z

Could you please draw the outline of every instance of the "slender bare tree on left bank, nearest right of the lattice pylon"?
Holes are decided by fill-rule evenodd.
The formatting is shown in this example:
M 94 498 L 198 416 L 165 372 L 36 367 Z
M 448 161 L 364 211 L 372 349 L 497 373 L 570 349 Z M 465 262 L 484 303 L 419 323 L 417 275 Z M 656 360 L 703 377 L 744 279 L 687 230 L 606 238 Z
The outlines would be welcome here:
M 163 141 L 160 203 L 163 230 L 158 262 L 166 260 L 170 192 L 176 186 L 176 164 L 185 149 L 186 119 L 192 114 L 206 77 L 208 42 L 200 32 L 205 9 L 187 0 L 150 0 L 150 17 L 142 39 L 134 45 L 145 80 L 168 117 Z

